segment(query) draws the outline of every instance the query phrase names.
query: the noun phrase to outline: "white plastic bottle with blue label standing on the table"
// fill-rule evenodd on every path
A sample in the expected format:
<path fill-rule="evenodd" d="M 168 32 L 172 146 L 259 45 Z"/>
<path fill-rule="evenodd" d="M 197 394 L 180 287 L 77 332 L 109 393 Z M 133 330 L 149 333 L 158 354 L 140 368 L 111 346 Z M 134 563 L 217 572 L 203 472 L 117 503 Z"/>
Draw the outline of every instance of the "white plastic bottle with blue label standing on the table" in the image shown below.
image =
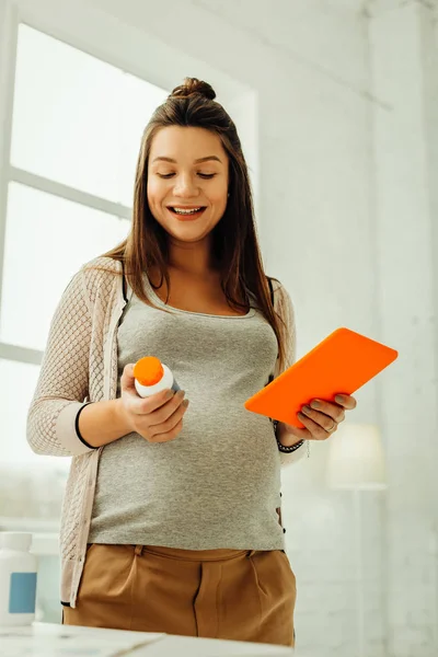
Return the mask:
<path fill-rule="evenodd" d="M 31 533 L 0 532 L 0 627 L 35 620 L 37 558 L 31 545 Z"/>

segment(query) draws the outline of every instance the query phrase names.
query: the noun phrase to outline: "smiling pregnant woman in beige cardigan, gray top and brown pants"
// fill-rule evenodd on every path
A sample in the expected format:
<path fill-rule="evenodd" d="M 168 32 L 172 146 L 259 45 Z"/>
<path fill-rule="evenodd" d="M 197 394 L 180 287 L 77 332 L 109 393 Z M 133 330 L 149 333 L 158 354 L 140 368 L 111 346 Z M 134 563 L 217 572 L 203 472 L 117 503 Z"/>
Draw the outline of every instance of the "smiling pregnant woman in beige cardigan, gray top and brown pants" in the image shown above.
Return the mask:
<path fill-rule="evenodd" d="M 147 355 L 184 390 L 141 399 L 134 364 Z M 186 79 L 146 127 L 128 238 L 62 295 L 28 412 L 34 451 L 72 457 L 66 624 L 293 646 L 280 465 L 356 405 L 315 400 L 301 429 L 247 412 L 293 358 L 235 126 L 209 84 Z"/>

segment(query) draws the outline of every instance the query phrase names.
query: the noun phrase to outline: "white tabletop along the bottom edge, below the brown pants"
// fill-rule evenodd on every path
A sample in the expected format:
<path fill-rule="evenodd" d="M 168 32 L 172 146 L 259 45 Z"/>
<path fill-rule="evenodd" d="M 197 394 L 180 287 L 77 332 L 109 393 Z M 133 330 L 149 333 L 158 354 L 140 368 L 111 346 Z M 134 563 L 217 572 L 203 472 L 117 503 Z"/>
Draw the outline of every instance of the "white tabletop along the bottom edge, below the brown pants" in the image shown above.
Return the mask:
<path fill-rule="evenodd" d="M 1 657 L 286 657 L 292 648 L 266 644 L 34 623 L 0 627 Z"/>

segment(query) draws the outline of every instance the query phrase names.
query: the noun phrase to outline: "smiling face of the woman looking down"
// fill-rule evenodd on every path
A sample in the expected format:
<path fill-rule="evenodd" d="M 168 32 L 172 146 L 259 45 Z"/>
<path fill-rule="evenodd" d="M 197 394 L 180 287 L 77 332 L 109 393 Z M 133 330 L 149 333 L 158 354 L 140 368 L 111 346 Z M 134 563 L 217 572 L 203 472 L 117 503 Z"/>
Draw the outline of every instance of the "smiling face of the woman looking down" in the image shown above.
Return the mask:
<path fill-rule="evenodd" d="M 198 242 L 227 207 L 228 155 L 205 128 L 170 126 L 154 136 L 148 163 L 148 203 L 157 221 L 183 242 Z"/>

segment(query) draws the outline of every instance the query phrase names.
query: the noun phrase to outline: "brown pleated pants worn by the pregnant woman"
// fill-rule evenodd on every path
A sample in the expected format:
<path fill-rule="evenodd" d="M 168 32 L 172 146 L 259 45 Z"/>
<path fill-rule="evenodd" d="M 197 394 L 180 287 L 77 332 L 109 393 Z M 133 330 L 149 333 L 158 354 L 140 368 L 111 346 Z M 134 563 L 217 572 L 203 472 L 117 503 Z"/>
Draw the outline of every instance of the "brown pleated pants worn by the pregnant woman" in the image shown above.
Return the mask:
<path fill-rule="evenodd" d="M 280 550 L 92 544 L 64 623 L 293 646 L 295 601 Z"/>

